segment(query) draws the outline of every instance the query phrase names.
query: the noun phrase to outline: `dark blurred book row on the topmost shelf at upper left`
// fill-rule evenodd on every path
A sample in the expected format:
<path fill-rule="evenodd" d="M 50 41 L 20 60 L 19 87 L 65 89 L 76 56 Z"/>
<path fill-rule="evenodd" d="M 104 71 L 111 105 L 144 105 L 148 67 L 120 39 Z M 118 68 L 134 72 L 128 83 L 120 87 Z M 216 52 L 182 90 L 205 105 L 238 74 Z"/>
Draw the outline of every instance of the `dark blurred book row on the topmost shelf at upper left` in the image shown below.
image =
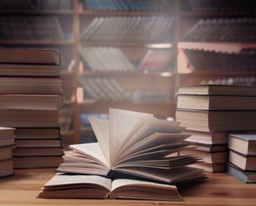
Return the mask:
<path fill-rule="evenodd" d="M 72 0 L 2 0 L 0 10 L 72 10 Z"/>

